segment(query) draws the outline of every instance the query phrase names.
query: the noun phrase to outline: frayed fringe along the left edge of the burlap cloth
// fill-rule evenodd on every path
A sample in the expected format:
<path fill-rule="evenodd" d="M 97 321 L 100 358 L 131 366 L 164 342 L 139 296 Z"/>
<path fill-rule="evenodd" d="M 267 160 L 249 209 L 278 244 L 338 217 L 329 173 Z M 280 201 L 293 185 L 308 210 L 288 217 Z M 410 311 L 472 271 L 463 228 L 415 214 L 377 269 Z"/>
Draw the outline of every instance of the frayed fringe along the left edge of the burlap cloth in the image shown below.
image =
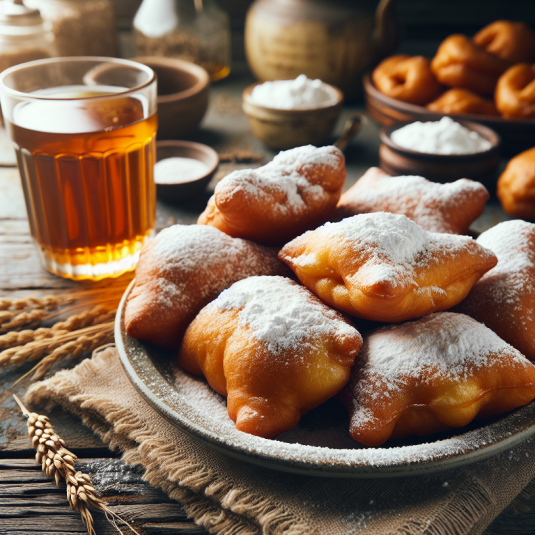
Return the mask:
<path fill-rule="evenodd" d="M 123 451 L 126 464 L 144 466 L 144 480 L 180 502 L 189 518 L 212 534 L 319 535 L 310 525 L 296 523 L 284 507 L 217 481 L 214 474 L 200 465 L 191 465 L 174 447 L 155 441 L 153 430 L 135 412 L 117 410 L 112 401 L 104 399 L 100 400 L 98 411 L 91 408 L 95 396 L 79 394 L 72 374 L 94 374 L 95 359 L 109 359 L 114 352 L 115 348 L 97 350 L 92 359 L 84 360 L 74 369 L 59 371 L 36 383 L 26 392 L 26 401 L 49 407 L 57 404 L 77 415 L 112 451 Z M 102 414 L 107 415 L 106 419 Z"/>

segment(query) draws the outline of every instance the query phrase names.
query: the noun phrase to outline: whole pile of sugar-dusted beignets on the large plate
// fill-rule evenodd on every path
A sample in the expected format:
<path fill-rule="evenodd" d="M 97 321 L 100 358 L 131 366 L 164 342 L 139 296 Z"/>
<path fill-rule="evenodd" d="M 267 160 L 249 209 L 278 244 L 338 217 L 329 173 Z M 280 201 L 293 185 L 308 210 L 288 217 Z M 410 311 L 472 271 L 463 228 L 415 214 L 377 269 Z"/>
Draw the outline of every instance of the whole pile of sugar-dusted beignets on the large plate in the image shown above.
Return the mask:
<path fill-rule="evenodd" d="M 127 333 L 174 350 L 265 438 L 332 396 L 371 447 L 532 401 L 535 224 L 474 240 L 479 183 L 345 180 L 334 146 L 226 176 L 198 224 L 142 249 Z"/>

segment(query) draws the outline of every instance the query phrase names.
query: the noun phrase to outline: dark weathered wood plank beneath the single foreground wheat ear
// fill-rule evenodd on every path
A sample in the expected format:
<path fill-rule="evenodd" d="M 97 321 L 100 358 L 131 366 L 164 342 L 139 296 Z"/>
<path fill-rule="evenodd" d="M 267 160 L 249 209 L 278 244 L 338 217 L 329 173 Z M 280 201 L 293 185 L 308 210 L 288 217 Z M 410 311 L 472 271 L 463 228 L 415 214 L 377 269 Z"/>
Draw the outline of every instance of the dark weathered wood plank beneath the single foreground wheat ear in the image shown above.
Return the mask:
<path fill-rule="evenodd" d="M 77 460 L 77 470 L 91 476 L 93 486 L 114 513 L 121 515 L 142 534 L 198 533 L 202 528 L 187 519 L 183 506 L 162 490 L 143 481 L 141 467 L 127 467 L 118 459 Z M 111 533 L 95 512 L 98 533 Z M 81 520 L 70 510 L 65 485 L 55 485 L 31 459 L 0 460 L 0 532 L 83 532 Z M 24 526 L 24 527 L 22 527 Z"/>

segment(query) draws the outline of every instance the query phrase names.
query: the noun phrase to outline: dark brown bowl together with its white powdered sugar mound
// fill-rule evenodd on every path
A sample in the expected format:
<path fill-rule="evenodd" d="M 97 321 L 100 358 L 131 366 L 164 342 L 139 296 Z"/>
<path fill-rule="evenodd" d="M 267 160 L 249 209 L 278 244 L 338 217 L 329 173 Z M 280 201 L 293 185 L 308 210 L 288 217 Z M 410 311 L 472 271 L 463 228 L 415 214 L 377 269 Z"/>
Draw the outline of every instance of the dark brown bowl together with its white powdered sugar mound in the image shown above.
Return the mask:
<path fill-rule="evenodd" d="M 380 166 L 394 176 L 419 175 L 442 183 L 458 178 L 486 182 L 495 177 L 499 163 L 499 135 L 472 121 L 444 117 L 419 124 L 396 123 L 383 128 L 380 139 Z"/>

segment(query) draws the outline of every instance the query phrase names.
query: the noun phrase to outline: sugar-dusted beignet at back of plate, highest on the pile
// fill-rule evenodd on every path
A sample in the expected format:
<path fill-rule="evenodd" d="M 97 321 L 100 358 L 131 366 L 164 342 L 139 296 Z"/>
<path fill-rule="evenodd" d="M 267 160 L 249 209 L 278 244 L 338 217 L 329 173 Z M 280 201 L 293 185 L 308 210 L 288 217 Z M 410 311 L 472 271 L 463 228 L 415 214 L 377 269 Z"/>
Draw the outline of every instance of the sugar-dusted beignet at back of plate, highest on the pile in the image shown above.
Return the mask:
<path fill-rule="evenodd" d="M 198 224 L 234 238 L 281 245 L 327 221 L 345 181 L 339 148 L 286 150 L 259 169 L 234 171 L 221 180 Z"/>

